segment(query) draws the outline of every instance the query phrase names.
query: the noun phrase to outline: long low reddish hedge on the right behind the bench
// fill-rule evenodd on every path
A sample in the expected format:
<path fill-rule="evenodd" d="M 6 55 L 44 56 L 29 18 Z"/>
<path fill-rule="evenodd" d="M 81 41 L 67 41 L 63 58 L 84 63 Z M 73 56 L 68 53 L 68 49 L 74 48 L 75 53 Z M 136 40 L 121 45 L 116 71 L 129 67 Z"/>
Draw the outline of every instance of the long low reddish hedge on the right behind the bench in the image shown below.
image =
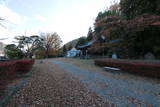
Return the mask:
<path fill-rule="evenodd" d="M 160 78 L 160 63 L 146 63 L 145 61 L 129 61 L 107 58 L 96 59 L 95 65 L 117 67 L 123 71 Z"/>

